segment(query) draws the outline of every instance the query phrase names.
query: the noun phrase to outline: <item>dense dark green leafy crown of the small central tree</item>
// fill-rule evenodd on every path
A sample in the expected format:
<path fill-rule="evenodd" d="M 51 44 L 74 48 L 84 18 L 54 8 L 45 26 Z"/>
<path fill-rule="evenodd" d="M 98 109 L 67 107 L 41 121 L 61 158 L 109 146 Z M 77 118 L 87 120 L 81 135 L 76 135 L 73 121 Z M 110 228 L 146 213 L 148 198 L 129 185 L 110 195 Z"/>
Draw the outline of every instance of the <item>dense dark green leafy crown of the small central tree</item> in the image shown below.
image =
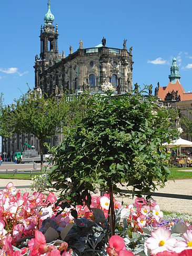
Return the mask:
<path fill-rule="evenodd" d="M 117 193 L 116 184 L 126 182 L 134 187 L 133 194 L 164 185 L 170 172 L 161 144 L 177 136 L 171 118 L 173 112 L 140 93 L 89 96 L 82 123 L 53 152 L 50 181 L 63 191 L 63 206 L 68 200 L 72 205 L 83 204 L 83 200 L 89 205 L 96 184 L 106 191 L 113 185 Z M 67 178 L 72 179 L 70 188 Z"/>

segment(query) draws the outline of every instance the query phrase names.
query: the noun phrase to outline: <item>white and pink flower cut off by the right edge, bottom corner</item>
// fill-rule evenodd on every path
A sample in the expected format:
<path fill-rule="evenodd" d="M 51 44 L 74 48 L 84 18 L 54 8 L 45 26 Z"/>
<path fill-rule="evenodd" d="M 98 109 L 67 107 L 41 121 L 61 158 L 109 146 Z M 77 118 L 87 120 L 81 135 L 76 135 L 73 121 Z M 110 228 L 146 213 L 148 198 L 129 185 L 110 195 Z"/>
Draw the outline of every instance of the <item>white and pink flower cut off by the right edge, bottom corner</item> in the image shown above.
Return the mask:
<path fill-rule="evenodd" d="M 185 241 L 177 241 L 173 251 L 179 253 L 184 250 L 192 249 L 192 230 L 187 230 L 183 234 L 183 237 L 184 237 Z"/>

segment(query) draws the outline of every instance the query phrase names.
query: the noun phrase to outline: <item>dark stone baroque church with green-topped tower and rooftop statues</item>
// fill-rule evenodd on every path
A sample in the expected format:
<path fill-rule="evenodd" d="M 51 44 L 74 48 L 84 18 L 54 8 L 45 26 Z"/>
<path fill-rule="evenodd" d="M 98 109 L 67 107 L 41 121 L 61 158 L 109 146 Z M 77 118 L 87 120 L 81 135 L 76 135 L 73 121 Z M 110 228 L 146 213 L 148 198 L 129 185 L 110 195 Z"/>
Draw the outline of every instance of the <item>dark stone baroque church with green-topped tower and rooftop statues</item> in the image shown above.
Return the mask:
<path fill-rule="evenodd" d="M 53 25 L 49 0 L 47 5 L 39 36 L 41 53 L 35 56 L 35 88 L 47 95 L 60 95 L 66 90 L 78 94 L 84 90 L 98 92 L 108 81 L 118 93 L 132 92 L 132 47 L 127 51 L 127 40 L 122 49 L 107 47 L 104 37 L 102 44 L 91 48 L 83 48 L 80 40 L 77 51 L 69 46 L 68 56 L 64 51 L 59 54 L 58 26 Z"/>

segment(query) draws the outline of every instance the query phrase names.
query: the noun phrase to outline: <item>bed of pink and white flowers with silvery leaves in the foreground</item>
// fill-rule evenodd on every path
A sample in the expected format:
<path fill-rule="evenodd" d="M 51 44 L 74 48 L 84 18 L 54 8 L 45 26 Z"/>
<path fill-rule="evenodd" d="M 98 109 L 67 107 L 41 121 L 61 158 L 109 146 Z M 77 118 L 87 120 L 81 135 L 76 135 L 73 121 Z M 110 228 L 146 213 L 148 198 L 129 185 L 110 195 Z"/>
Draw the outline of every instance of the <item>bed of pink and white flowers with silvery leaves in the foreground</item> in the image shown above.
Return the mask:
<path fill-rule="evenodd" d="M 0 255 L 192 255 L 191 223 L 165 222 L 153 200 L 137 198 L 126 208 L 114 200 L 110 240 L 107 193 L 93 195 L 90 209 L 77 205 L 77 219 L 58 201 L 52 192 L 21 194 L 9 182 L 0 191 Z"/>

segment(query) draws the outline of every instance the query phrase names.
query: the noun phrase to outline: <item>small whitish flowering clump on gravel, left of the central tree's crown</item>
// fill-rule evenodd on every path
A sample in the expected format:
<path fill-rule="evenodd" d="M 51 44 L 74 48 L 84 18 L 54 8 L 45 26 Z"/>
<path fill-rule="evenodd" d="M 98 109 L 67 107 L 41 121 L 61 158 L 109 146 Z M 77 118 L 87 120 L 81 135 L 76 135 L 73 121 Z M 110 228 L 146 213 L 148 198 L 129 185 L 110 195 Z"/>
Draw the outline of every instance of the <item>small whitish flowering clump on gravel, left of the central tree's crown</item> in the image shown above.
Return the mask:
<path fill-rule="evenodd" d="M 48 179 L 48 173 L 35 175 L 34 178 L 32 178 L 30 189 L 37 190 L 37 191 L 44 191 L 47 188 L 47 183 L 46 183 L 47 179 Z"/>

